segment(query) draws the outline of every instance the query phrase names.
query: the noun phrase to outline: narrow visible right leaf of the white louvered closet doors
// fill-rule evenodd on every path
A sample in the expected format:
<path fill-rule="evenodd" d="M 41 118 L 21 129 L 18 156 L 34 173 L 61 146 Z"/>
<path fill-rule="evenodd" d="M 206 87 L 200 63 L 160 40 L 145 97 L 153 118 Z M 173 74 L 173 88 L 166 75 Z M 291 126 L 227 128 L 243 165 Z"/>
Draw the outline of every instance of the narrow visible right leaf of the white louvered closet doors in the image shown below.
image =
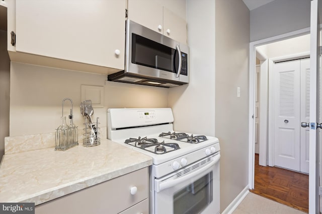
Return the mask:
<path fill-rule="evenodd" d="M 300 60 L 300 122 L 310 120 L 310 59 Z M 309 128 L 300 128 L 300 171 L 309 171 Z"/>

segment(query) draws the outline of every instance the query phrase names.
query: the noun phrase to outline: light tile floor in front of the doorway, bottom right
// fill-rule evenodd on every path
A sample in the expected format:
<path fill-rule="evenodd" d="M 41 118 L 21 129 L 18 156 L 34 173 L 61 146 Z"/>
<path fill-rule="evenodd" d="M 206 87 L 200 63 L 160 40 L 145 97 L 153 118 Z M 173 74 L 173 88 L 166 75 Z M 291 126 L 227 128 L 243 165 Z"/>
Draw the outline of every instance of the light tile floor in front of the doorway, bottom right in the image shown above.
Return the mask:
<path fill-rule="evenodd" d="M 304 214 L 300 210 L 250 192 L 232 214 Z"/>

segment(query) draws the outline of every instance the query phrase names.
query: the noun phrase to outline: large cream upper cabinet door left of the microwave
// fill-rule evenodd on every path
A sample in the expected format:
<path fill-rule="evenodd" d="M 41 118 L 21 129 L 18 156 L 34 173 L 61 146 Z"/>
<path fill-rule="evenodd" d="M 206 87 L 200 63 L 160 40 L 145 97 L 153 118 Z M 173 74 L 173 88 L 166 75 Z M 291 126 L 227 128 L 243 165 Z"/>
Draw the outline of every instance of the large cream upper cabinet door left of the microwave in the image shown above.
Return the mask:
<path fill-rule="evenodd" d="M 17 0 L 16 51 L 124 69 L 125 8 L 125 0 Z"/>

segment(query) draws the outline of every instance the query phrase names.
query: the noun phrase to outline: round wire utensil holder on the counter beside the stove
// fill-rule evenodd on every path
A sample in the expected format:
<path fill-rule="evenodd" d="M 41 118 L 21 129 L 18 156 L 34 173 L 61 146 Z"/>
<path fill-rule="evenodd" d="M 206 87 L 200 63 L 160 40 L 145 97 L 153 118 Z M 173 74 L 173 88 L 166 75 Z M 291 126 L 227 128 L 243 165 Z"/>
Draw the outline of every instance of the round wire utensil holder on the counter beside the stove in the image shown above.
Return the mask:
<path fill-rule="evenodd" d="M 94 125 L 96 126 L 96 134 L 93 132 L 92 128 L 91 128 L 91 123 L 89 122 L 88 118 L 85 118 L 85 128 L 83 129 L 85 131 L 84 135 L 84 139 L 83 139 L 83 146 L 89 147 L 89 146 L 97 146 L 101 144 L 101 140 L 100 140 L 100 127 L 99 127 L 99 122 L 98 122 L 99 118 L 96 118 L 96 123 L 94 123 Z"/>

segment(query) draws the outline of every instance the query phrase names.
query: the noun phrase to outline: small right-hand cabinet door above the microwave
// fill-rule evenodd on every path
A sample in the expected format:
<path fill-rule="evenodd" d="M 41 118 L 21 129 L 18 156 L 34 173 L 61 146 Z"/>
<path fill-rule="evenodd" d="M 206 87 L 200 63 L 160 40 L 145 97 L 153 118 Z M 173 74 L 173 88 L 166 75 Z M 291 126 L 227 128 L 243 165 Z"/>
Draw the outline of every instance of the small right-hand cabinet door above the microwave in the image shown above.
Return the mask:
<path fill-rule="evenodd" d="M 186 21 L 176 14 L 163 8 L 164 35 L 183 44 L 187 43 Z"/>

